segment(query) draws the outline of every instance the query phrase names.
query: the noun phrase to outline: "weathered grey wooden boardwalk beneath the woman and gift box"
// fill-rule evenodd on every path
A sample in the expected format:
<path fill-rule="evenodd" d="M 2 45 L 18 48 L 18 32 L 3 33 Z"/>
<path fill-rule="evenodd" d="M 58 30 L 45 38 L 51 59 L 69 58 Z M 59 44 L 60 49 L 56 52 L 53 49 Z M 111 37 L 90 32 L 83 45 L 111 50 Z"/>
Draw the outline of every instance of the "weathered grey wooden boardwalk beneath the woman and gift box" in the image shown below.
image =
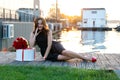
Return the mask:
<path fill-rule="evenodd" d="M 89 55 L 80 54 L 80 55 Z M 39 52 L 36 53 L 34 61 L 16 61 L 15 52 L 0 52 L 0 65 L 31 65 L 31 66 L 66 66 L 74 68 L 85 68 L 85 69 L 106 69 L 106 70 L 120 70 L 120 54 L 102 54 L 93 53 L 92 56 L 97 57 L 97 62 L 85 62 L 78 59 L 71 59 L 69 61 L 51 62 L 51 61 L 40 61 L 41 55 Z"/>

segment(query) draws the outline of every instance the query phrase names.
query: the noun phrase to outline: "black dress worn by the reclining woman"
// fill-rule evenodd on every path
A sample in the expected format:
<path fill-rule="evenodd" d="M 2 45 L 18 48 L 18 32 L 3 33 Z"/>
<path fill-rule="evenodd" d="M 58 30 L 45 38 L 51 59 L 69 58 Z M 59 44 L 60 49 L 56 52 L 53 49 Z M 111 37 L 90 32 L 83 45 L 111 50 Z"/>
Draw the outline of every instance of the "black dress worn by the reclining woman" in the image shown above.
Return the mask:
<path fill-rule="evenodd" d="M 36 37 L 35 43 L 39 46 L 42 56 L 44 56 L 47 49 L 47 41 L 47 34 L 44 32 L 40 32 Z M 65 50 L 65 48 L 59 42 L 52 41 L 52 46 L 46 59 L 57 61 L 58 55 L 61 54 L 63 50 Z"/>

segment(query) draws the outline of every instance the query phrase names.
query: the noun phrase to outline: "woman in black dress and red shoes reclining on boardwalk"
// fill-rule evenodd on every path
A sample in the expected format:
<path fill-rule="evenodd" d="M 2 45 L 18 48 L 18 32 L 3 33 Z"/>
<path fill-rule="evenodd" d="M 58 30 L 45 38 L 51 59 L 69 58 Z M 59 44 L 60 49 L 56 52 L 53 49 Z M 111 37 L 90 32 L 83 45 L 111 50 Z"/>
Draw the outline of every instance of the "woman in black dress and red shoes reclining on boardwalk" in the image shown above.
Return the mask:
<path fill-rule="evenodd" d="M 59 61 L 73 58 L 96 62 L 96 58 L 88 58 L 78 53 L 66 50 L 59 42 L 52 41 L 52 31 L 49 30 L 44 18 L 34 21 L 34 29 L 30 34 L 30 46 L 38 45 L 44 60 Z"/>

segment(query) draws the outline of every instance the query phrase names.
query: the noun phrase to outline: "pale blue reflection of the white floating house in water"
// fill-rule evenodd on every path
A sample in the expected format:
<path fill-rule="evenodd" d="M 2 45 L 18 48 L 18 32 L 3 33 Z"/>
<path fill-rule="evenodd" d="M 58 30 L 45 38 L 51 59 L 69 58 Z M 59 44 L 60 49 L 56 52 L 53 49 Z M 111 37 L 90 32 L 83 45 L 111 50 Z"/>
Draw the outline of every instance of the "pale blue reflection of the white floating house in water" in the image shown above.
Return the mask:
<path fill-rule="evenodd" d="M 105 31 L 81 31 L 81 44 L 94 46 L 92 49 L 105 49 Z"/>

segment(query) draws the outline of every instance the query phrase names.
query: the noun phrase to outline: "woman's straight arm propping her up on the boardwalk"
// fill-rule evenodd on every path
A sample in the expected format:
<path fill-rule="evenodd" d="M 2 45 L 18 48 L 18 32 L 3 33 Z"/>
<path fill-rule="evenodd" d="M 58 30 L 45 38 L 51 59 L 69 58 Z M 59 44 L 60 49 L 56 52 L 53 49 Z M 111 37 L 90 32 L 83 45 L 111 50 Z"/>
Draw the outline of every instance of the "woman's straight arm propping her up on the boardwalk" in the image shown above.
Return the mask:
<path fill-rule="evenodd" d="M 51 45 L 52 45 L 52 31 L 50 30 L 48 32 L 48 46 L 47 46 L 47 49 L 45 51 L 44 59 L 48 56 L 50 49 L 51 49 Z"/>

